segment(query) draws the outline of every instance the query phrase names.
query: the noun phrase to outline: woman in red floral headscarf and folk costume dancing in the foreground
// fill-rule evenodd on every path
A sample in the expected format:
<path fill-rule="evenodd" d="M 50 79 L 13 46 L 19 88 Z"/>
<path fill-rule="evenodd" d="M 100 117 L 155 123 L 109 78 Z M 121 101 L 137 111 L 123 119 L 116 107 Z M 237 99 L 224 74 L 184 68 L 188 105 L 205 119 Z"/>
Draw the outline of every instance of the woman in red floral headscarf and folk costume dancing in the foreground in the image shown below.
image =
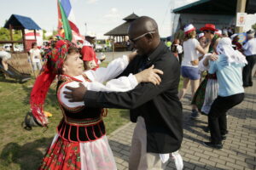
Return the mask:
<path fill-rule="evenodd" d="M 47 61 L 32 88 L 32 114 L 39 123 L 47 125 L 44 100 L 50 84 L 58 76 L 57 100 L 63 118 L 39 169 L 117 169 L 102 122 L 102 116 L 106 114 L 102 109 L 87 108 L 84 102 L 69 102 L 64 98 L 64 88 L 76 88 L 82 83 L 94 91 L 128 91 L 135 88 L 139 82 L 160 83 L 156 72 L 161 71 L 151 67 L 137 75 L 131 74 L 129 77 L 119 77 L 107 82 L 125 70 L 135 53 L 114 59 L 107 68 L 83 72 L 84 65 L 79 58 L 78 49 L 66 40 L 56 42 L 55 48 L 46 56 Z M 151 81 L 148 81 L 149 79 Z M 102 82 L 107 84 L 104 86 Z"/>

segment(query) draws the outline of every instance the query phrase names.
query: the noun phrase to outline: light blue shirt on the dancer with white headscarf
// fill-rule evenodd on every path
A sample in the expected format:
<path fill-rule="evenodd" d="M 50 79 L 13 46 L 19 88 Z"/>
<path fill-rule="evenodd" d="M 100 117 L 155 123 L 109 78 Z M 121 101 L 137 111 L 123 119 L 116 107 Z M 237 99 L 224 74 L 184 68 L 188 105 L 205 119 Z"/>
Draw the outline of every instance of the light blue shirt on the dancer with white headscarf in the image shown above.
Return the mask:
<path fill-rule="evenodd" d="M 241 69 L 244 64 L 227 62 L 225 55 L 218 55 L 216 61 L 210 61 L 209 73 L 216 73 L 218 79 L 218 95 L 226 97 L 244 93 Z"/>

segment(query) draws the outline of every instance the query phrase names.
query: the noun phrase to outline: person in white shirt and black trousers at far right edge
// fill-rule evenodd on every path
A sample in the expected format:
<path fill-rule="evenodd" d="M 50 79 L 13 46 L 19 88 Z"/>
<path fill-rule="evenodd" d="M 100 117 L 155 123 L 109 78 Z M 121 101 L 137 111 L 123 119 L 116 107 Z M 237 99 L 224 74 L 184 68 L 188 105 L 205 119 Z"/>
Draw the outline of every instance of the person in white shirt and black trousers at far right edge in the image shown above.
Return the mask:
<path fill-rule="evenodd" d="M 242 71 L 243 87 L 253 86 L 252 71 L 253 66 L 256 63 L 256 38 L 254 37 L 254 31 L 247 31 L 247 42 L 242 46 L 243 54 L 246 56 L 248 64 Z"/>

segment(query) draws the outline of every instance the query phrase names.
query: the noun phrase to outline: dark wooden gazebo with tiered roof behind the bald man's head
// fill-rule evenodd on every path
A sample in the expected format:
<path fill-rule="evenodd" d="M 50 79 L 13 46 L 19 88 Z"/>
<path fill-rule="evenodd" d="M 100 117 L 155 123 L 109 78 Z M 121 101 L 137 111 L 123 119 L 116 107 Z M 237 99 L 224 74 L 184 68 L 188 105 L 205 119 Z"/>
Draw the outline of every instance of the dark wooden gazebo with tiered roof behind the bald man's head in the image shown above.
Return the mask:
<path fill-rule="evenodd" d="M 109 36 L 110 39 L 113 40 L 113 48 L 114 51 L 125 51 L 126 41 L 125 37 L 128 36 L 128 27 L 130 26 L 131 22 L 133 20 L 136 20 L 138 18 L 137 14 L 130 14 L 129 16 L 125 17 L 123 20 L 125 20 L 124 24 L 121 24 L 120 26 L 117 26 L 113 28 L 113 30 L 108 31 L 104 36 Z"/>

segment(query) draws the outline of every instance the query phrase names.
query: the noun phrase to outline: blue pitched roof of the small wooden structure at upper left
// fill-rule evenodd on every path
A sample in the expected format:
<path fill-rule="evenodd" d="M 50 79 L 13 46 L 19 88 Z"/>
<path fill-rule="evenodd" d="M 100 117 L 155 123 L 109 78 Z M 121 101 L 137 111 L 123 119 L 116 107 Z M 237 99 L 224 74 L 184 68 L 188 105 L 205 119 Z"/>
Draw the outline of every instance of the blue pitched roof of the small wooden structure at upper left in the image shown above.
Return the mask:
<path fill-rule="evenodd" d="M 9 29 L 9 25 L 13 26 L 16 30 L 41 30 L 41 28 L 31 18 L 18 14 L 12 14 L 3 27 Z"/>

